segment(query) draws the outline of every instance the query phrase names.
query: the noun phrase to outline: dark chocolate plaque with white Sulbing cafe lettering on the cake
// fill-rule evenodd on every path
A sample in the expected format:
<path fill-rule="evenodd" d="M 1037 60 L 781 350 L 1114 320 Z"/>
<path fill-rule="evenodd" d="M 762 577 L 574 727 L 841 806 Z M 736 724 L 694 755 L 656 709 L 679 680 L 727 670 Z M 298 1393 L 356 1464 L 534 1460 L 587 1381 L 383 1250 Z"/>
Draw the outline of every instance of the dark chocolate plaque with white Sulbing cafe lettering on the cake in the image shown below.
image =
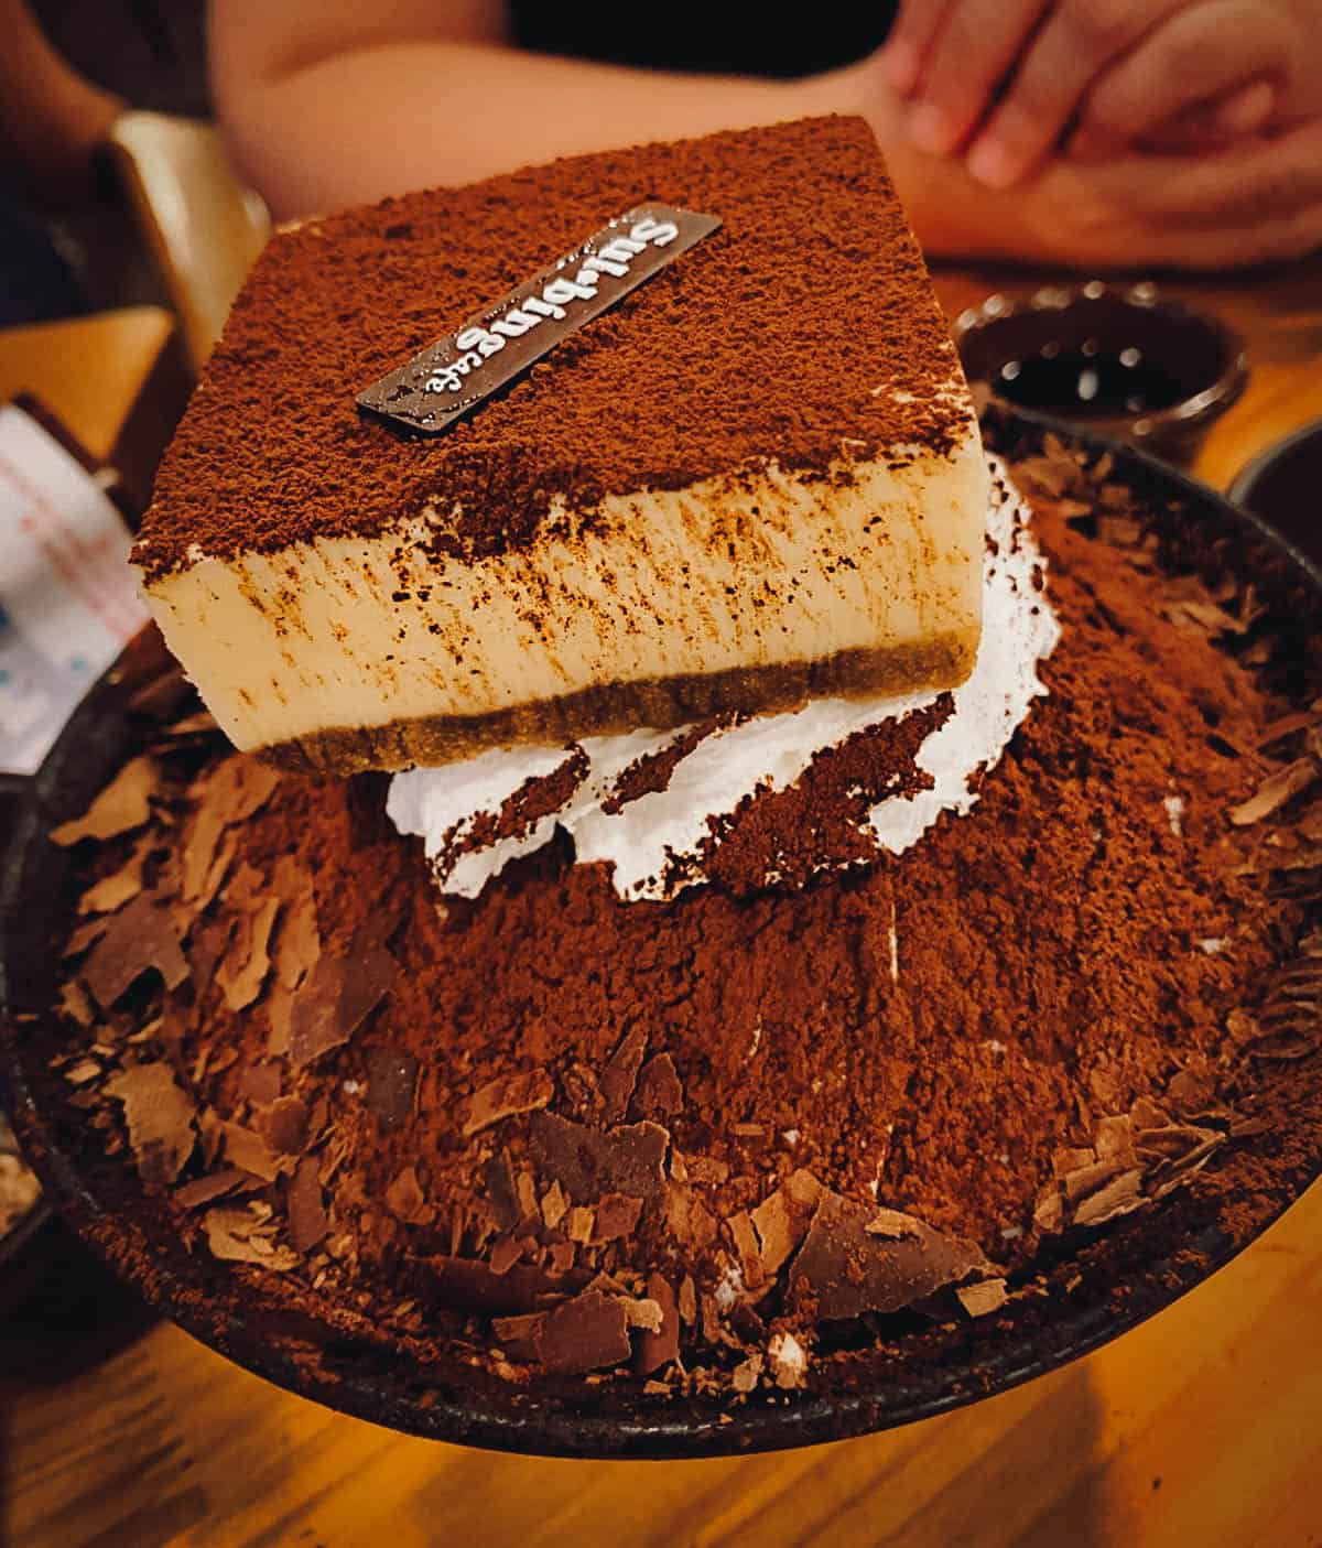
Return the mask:
<path fill-rule="evenodd" d="M 635 204 L 457 331 L 358 395 L 396 427 L 440 435 L 497 389 L 720 226 L 670 204 Z"/>

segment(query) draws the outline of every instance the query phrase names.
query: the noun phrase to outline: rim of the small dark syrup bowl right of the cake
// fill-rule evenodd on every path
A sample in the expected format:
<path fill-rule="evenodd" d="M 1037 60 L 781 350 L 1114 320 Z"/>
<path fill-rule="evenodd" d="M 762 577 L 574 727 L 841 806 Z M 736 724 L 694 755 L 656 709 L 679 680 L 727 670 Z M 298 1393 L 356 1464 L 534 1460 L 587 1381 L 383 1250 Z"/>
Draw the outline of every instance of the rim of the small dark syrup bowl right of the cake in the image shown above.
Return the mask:
<path fill-rule="evenodd" d="M 1111 280 L 1079 280 L 1070 285 L 1040 285 L 1028 296 L 1006 296 L 994 291 L 971 307 L 966 307 L 950 324 L 950 336 L 960 350 L 963 361 L 963 342 L 966 337 L 983 333 L 998 322 L 1025 313 L 1042 314 L 1051 311 L 1067 311 L 1071 307 L 1090 307 L 1102 300 L 1121 302 L 1138 311 L 1163 311 L 1167 316 L 1190 319 L 1209 333 L 1215 334 L 1226 356 L 1226 365 L 1220 376 L 1209 385 L 1181 398 L 1166 409 L 1152 409 L 1144 413 L 1125 415 L 1090 415 L 1087 420 L 1068 420 L 1062 415 L 1048 415 L 1060 424 L 1068 424 L 1084 435 L 1136 435 L 1139 438 L 1159 438 L 1163 432 L 1190 432 L 1207 424 L 1217 415 L 1224 413 L 1234 404 L 1249 379 L 1249 351 L 1243 336 L 1217 313 L 1203 307 L 1194 307 L 1176 296 L 1166 296 L 1152 280 L 1133 280 L 1118 283 Z M 992 398 L 1008 412 L 1036 418 L 1034 410 L 1025 410 L 1022 404 L 997 393 L 995 384 L 988 382 Z"/>

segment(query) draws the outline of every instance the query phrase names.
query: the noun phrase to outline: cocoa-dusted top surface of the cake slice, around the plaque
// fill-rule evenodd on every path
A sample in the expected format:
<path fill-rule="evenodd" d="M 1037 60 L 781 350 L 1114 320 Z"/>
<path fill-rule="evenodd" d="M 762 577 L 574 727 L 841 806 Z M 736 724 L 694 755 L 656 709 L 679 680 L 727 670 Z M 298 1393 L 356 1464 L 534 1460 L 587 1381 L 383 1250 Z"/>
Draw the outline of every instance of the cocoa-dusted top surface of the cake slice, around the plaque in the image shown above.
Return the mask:
<path fill-rule="evenodd" d="M 444 435 L 359 418 L 361 389 L 649 198 L 721 229 Z M 522 548 L 556 495 L 590 509 L 768 461 L 822 472 L 842 437 L 859 458 L 944 452 L 968 430 L 952 384 L 958 359 L 862 119 L 576 156 L 276 232 L 161 464 L 135 560 L 159 574 L 194 545 L 272 553 L 457 505 L 440 546 Z"/>

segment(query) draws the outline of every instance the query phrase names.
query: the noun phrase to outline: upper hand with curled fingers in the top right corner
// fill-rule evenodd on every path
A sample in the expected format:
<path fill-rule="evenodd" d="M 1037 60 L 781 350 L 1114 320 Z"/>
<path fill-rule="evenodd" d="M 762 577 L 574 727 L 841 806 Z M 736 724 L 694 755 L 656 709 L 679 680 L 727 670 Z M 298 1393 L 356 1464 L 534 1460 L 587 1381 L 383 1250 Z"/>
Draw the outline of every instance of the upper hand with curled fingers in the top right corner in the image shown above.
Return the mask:
<path fill-rule="evenodd" d="M 902 0 L 881 68 L 918 149 L 991 187 L 1322 115 L 1322 0 Z"/>

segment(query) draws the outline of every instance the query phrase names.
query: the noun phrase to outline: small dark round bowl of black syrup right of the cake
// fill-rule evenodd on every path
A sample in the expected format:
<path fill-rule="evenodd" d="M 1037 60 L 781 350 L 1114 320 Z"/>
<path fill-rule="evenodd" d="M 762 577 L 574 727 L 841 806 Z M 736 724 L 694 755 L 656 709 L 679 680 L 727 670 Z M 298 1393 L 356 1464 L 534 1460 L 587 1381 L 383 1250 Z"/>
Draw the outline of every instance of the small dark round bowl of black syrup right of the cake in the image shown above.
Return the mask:
<path fill-rule="evenodd" d="M 1217 317 L 1149 283 L 1088 280 L 1012 300 L 989 296 L 955 319 L 971 382 L 1028 415 L 1068 420 L 1175 463 L 1240 396 L 1248 356 Z"/>

